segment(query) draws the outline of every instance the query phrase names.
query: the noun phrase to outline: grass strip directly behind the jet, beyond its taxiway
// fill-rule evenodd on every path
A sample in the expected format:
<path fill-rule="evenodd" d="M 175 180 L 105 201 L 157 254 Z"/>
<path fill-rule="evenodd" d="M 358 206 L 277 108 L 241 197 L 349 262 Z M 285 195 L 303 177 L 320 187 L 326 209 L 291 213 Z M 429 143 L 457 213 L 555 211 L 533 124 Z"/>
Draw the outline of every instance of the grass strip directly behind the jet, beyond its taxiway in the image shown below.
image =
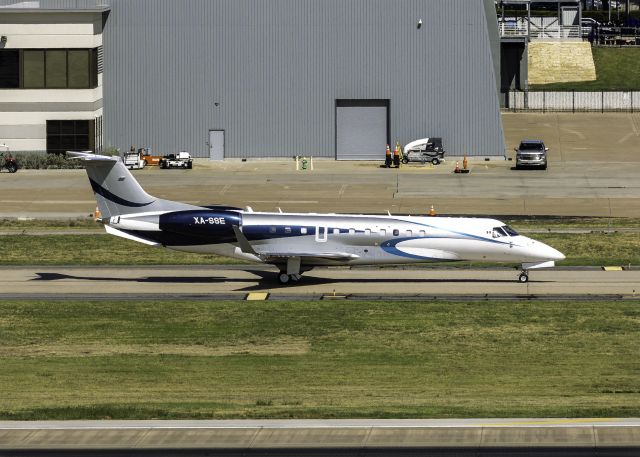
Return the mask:
<path fill-rule="evenodd" d="M 541 233 L 563 252 L 559 265 L 640 265 L 640 233 Z M 158 249 L 106 235 L 0 236 L 0 265 L 213 265 L 238 260 Z M 465 263 L 464 265 L 468 265 Z"/>

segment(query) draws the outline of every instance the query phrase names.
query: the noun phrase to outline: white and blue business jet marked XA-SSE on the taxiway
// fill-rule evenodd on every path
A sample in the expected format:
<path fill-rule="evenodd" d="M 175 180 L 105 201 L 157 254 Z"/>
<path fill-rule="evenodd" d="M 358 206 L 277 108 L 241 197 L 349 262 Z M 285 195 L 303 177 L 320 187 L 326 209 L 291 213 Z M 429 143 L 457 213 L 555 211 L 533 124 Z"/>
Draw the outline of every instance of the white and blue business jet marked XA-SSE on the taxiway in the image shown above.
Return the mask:
<path fill-rule="evenodd" d="M 263 213 L 194 206 L 152 197 L 120 158 L 84 152 L 89 182 L 108 233 L 151 246 L 268 263 L 282 284 L 319 265 L 455 260 L 554 266 L 564 255 L 495 219 Z"/>

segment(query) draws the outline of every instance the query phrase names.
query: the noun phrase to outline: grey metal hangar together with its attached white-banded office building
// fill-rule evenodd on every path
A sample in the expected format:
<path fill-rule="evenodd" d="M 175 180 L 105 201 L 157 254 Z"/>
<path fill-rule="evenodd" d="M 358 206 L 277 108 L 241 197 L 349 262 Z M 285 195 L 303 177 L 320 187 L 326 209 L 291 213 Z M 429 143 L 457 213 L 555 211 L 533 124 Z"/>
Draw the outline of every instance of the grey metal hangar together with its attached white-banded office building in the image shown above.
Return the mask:
<path fill-rule="evenodd" d="M 12 150 L 357 160 L 437 136 L 450 155 L 505 155 L 492 0 L 0 5 Z"/>

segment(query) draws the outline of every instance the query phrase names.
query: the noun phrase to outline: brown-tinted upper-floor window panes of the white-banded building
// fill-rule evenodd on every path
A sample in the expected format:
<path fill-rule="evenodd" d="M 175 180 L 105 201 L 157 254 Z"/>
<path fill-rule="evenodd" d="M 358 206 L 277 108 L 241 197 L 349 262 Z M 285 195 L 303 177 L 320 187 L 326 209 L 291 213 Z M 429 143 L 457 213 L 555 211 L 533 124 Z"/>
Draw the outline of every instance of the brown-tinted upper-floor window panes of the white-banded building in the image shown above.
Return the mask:
<path fill-rule="evenodd" d="M 24 89 L 89 89 L 98 87 L 95 49 L 22 50 Z"/>

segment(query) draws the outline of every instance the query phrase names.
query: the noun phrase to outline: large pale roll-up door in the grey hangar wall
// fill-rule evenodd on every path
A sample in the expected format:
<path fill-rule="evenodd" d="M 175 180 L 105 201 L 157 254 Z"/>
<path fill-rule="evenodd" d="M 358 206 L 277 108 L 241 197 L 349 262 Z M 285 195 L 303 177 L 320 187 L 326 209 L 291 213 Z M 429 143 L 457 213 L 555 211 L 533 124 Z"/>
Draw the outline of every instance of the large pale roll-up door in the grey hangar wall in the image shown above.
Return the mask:
<path fill-rule="evenodd" d="M 336 100 L 336 159 L 384 160 L 389 100 Z"/>

